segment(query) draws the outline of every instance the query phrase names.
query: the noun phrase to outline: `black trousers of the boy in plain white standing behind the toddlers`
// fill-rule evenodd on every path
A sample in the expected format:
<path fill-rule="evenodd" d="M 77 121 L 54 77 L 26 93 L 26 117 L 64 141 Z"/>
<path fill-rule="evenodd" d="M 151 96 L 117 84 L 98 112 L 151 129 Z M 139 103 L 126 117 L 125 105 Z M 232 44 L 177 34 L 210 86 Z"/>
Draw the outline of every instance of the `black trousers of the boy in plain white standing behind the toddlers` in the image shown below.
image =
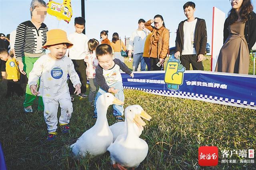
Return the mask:
<path fill-rule="evenodd" d="M 86 92 L 86 84 L 87 84 L 86 63 L 84 62 L 84 60 L 72 60 L 72 62 L 74 63 L 75 70 L 80 78 L 81 83 L 82 83 L 81 93 L 85 93 Z M 68 87 L 69 87 L 70 94 L 74 94 L 75 88 L 74 88 L 71 80 L 68 81 Z"/>

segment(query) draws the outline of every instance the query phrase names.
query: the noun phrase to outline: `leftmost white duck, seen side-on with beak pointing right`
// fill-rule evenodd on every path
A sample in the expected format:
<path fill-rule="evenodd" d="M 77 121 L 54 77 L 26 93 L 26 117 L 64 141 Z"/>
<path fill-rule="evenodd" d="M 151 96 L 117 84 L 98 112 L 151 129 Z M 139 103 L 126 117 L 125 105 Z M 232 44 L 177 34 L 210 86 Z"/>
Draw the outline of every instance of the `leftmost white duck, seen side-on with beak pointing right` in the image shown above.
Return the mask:
<path fill-rule="evenodd" d="M 112 104 L 124 104 L 111 93 L 102 94 L 96 101 L 97 120 L 94 126 L 88 129 L 78 138 L 70 148 L 76 156 L 86 156 L 87 153 L 93 156 L 104 154 L 113 141 L 113 135 L 108 127 L 107 110 Z"/>

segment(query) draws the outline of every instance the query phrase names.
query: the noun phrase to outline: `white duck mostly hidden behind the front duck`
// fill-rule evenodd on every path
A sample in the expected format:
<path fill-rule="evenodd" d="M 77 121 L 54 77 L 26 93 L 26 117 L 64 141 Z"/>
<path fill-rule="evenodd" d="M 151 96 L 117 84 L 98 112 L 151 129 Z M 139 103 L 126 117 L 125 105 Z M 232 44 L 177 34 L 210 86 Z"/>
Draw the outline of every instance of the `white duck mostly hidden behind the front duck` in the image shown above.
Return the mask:
<path fill-rule="evenodd" d="M 145 112 L 144 109 L 140 105 L 132 105 L 132 106 L 136 107 L 136 109 L 137 109 L 137 112 L 135 114 L 140 114 L 142 112 Z M 149 119 L 151 119 L 151 117 Z M 138 137 L 140 137 L 143 129 L 140 129 L 136 125 L 136 123 L 133 123 L 133 125 L 134 125 L 135 133 L 137 134 Z M 127 132 L 126 123 L 123 121 L 117 122 L 114 125 L 111 125 L 109 128 L 113 134 L 113 141 L 115 141 L 119 135 L 126 134 L 126 132 Z"/>

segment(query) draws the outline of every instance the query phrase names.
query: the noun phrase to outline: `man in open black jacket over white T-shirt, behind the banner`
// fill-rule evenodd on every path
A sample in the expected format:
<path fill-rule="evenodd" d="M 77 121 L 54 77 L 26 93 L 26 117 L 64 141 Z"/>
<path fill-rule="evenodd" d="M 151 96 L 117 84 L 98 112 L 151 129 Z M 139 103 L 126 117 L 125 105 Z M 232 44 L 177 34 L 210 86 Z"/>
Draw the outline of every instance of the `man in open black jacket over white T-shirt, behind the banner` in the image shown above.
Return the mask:
<path fill-rule="evenodd" d="M 203 19 L 195 18 L 196 10 L 194 2 L 184 4 L 184 14 L 187 20 L 181 21 L 176 35 L 176 53 L 174 57 L 180 57 L 181 64 L 190 70 L 190 63 L 193 70 L 204 70 L 202 60 L 207 42 L 206 23 Z"/>

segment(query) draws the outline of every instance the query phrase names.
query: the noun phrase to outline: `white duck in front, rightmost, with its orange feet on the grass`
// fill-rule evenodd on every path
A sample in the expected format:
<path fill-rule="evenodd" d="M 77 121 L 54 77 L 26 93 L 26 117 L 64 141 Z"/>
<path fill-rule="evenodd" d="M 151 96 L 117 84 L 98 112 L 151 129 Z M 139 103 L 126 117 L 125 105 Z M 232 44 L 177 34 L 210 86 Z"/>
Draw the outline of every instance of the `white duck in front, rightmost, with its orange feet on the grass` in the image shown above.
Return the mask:
<path fill-rule="evenodd" d="M 114 143 L 108 147 L 110 158 L 114 168 L 126 170 L 124 167 L 137 168 L 147 154 L 148 144 L 140 139 L 134 130 L 133 123 L 143 130 L 146 123 L 141 117 L 150 120 L 150 115 L 145 112 L 136 114 L 138 111 L 136 106 L 128 106 L 124 111 L 127 133 L 119 135 Z"/>

